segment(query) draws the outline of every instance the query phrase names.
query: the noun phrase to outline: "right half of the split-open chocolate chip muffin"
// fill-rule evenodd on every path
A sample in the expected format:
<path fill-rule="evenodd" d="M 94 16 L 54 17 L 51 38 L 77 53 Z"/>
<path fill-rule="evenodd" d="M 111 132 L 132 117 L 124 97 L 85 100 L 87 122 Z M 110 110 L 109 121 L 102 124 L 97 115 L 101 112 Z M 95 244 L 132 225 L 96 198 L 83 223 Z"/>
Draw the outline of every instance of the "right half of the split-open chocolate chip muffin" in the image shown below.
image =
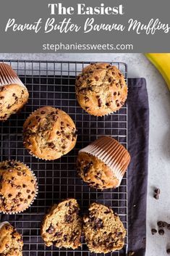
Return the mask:
<path fill-rule="evenodd" d="M 109 207 L 93 203 L 83 220 L 85 241 L 90 252 L 108 253 L 124 247 L 126 231 L 119 216 Z"/>

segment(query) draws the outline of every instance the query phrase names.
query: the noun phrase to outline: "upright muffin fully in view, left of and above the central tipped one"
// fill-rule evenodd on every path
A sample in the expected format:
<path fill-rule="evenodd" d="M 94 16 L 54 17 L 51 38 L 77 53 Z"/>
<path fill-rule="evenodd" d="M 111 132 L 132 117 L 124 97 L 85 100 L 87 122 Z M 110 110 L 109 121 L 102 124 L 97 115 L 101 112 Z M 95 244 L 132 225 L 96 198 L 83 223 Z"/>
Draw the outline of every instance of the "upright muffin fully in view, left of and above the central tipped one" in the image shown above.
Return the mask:
<path fill-rule="evenodd" d="M 24 146 L 30 154 L 55 160 L 72 150 L 77 131 L 72 118 L 54 107 L 41 107 L 24 123 Z"/>

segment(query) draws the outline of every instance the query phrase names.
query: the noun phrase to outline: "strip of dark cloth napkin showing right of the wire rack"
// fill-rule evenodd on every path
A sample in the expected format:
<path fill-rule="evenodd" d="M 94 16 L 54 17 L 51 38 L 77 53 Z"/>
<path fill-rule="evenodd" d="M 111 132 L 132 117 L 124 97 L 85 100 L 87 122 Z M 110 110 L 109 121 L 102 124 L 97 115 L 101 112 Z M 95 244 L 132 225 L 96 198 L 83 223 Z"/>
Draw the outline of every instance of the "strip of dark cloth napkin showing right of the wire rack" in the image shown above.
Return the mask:
<path fill-rule="evenodd" d="M 148 181 L 149 105 L 145 78 L 128 80 L 128 169 L 129 255 L 145 255 L 146 198 Z"/>

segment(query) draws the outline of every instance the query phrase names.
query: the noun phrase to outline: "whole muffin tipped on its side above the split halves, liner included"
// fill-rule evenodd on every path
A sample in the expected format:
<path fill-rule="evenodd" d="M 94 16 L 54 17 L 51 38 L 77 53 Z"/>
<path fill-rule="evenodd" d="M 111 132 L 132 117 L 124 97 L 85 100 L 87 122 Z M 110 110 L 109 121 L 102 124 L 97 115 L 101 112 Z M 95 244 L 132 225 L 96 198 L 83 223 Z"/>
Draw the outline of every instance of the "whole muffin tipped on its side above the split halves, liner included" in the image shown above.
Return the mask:
<path fill-rule="evenodd" d="M 116 139 L 101 136 L 81 149 L 77 157 L 77 172 L 83 181 L 97 189 L 120 185 L 129 165 L 130 155 Z"/>

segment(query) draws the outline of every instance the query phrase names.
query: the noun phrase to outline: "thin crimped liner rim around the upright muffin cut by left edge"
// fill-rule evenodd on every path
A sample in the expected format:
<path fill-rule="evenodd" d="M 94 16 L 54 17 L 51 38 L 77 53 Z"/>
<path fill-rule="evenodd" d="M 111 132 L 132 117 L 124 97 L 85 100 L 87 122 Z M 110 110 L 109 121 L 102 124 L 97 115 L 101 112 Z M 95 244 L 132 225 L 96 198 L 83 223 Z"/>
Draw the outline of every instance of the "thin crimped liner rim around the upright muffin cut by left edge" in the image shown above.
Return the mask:
<path fill-rule="evenodd" d="M 24 162 L 21 162 L 21 161 L 19 161 L 19 160 L 18 160 L 18 161 L 17 161 L 17 160 L 6 160 L 6 161 L 2 161 L 2 162 L 9 162 L 9 161 L 11 161 L 11 162 L 20 162 L 20 163 L 22 163 L 23 165 L 25 165 Z M 33 197 L 32 201 L 30 202 L 30 205 L 27 205 L 27 207 L 26 207 L 24 210 L 22 210 L 22 211 L 18 211 L 18 212 L 5 212 L 5 211 L 0 211 L 0 213 L 7 214 L 7 215 L 17 214 L 17 213 L 20 213 L 20 212 L 25 212 L 25 210 L 27 210 L 31 205 L 33 205 L 33 202 L 35 201 L 35 199 L 36 199 L 36 197 L 37 197 L 37 195 L 38 195 L 38 182 L 37 182 L 37 177 L 35 176 L 35 173 L 33 173 L 33 170 L 31 170 L 28 165 L 25 165 L 25 166 L 28 168 L 28 170 L 30 170 L 30 173 L 32 173 L 32 175 L 33 175 L 33 177 L 34 177 L 34 179 L 35 179 L 35 185 L 36 185 L 36 187 L 35 187 L 35 196 Z M 2 198 L 3 198 L 3 197 L 2 197 Z"/>

